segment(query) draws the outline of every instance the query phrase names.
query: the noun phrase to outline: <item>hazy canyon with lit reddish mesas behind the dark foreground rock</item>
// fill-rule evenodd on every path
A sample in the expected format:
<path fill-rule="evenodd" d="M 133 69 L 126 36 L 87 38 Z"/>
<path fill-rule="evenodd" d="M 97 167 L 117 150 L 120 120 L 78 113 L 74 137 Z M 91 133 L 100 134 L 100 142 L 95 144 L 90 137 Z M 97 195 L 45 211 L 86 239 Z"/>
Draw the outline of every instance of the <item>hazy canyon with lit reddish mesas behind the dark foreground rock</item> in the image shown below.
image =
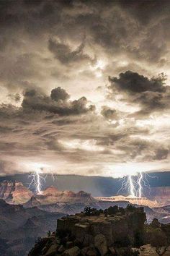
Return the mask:
<path fill-rule="evenodd" d="M 156 192 L 166 199 L 169 189 L 157 189 Z M 58 218 L 81 213 L 86 207 L 104 210 L 115 205 L 126 208 L 131 203 L 138 208 L 143 206 L 148 223 L 153 218 L 158 218 L 161 223 L 169 223 L 169 205 L 161 206 L 154 197 L 156 194 L 151 196 L 140 200 L 121 195 L 92 197 L 88 192 L 60 191 L 53 186 L 35 195 L 21 182 L 1 182 L 0 249 L 3 251 L 3 244 L 6 244 L 3 256 L 26 256 L 35 239 L 45 236 L 48 230 L 55 231 Z"/>

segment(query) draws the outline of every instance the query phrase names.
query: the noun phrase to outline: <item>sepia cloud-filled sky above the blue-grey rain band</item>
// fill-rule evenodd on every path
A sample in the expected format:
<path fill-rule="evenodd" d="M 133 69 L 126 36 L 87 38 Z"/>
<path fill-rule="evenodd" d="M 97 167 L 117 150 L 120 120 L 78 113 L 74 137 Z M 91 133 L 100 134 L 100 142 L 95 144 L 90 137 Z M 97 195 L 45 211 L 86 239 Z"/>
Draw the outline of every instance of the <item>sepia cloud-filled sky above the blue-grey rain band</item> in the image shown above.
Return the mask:
<path fill-rule="evenodd" d="M 0 1 L 0 172 L 169 171 L 170 1 Z"/>

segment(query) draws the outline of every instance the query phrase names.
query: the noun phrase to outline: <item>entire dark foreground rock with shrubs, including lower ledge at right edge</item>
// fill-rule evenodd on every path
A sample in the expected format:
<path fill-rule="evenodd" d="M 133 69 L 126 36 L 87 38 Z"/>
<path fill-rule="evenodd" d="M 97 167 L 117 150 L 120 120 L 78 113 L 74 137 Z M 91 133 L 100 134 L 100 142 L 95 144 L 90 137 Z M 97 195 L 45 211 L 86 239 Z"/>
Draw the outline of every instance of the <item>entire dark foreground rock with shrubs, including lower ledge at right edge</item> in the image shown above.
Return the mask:
<path fill-rule="evenodd" d="M 35 244 L 29 256 L 170 256 L 169 245 L 170 223 L 156 218 L 146 223 L 143 208 L 87 207 L 58 219 L 57 231 Z"/>

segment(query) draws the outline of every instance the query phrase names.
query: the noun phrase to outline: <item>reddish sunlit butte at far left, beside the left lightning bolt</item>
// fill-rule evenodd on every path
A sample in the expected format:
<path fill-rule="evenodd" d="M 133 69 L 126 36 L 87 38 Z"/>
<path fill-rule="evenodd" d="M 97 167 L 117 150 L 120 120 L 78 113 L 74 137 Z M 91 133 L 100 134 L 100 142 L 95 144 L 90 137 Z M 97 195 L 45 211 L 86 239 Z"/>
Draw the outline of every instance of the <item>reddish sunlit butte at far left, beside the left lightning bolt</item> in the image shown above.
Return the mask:
<path fill-rule="evenodd" d="M 10 204 L 23 204 L 32 197 L 33 193 L 22 182 L 4 181 L 0 183 L 0 198 Z"/>

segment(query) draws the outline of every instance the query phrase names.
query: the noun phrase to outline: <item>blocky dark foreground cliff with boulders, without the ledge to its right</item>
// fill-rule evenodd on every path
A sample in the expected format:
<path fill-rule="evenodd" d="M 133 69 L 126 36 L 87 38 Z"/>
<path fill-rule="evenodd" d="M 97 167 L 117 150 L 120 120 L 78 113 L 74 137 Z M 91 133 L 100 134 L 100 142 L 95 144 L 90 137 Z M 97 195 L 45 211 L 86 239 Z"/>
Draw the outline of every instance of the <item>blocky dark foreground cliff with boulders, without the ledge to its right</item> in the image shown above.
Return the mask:
<path fill-rule="evenodd" d="M 143 208 L 88 211 L 58 219 L 57 232 L 35 244 L 29 256 L 138 255 L 132 247 L 143 244 Z"/>

